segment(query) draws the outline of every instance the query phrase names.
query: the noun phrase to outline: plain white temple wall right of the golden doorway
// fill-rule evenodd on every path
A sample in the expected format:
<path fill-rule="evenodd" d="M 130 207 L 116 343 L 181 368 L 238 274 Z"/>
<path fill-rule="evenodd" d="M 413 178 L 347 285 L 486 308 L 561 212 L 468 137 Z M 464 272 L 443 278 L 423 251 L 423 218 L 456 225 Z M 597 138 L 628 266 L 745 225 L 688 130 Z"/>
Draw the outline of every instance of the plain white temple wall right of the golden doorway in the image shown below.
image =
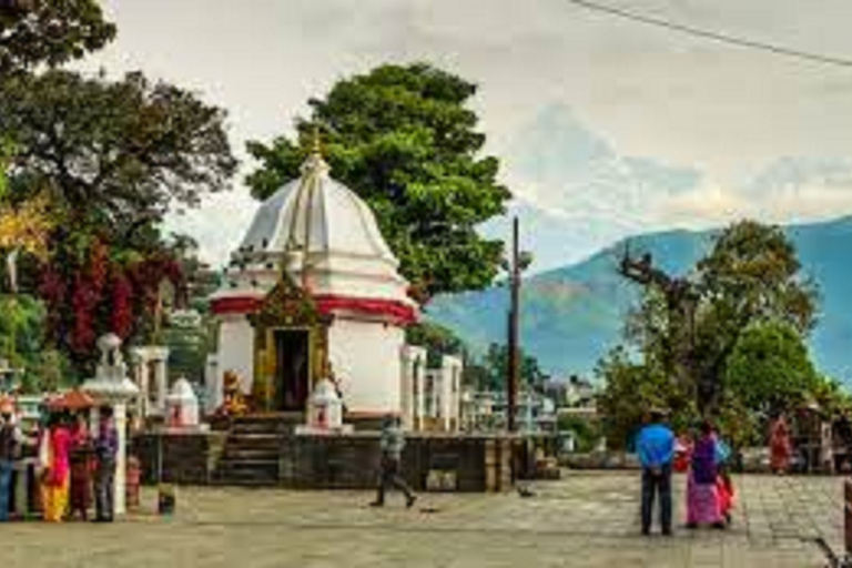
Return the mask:
<path fill-rule="evenodd" d="M 402 410 L 400 349 L 405 332 L 379 322 L 338 317 L 328 329 L 329 361 L 349 413 Z"/>

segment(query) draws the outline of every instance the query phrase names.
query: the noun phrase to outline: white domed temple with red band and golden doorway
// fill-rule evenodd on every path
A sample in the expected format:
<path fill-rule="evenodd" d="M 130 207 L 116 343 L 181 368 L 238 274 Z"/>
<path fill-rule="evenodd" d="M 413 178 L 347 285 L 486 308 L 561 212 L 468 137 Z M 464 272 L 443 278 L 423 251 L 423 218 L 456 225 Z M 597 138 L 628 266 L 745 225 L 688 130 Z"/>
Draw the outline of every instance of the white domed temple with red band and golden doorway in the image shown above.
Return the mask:
<path fill-rule="evenodd" d="M 418 310 L 397 266 L 371 209 L 329 176 L 315 148 L 302 176 L 261 205 L 211 297 L 220 328 L 207 410 L 222 403 L 227 372 L 246 394 L 265 389 L 270 412 L 307 412 L 314 385 L 331 378 L 347 416 L 390 413 L 417 427 L 425 356 L 405 345 Z M 448 357 L 444 367 L 457 374 L 460 363 Z M 447 429 L 457 381 L 443 383 Z"/>

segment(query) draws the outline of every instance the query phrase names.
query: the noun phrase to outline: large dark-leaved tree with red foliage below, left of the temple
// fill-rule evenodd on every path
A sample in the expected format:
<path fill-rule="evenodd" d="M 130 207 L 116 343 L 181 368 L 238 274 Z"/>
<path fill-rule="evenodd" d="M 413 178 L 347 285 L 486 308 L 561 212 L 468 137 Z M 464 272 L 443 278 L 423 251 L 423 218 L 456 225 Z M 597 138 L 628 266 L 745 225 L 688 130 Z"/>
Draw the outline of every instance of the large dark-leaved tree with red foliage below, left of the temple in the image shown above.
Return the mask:
<path fill-rule="evenodd" d="M 49 305 L 52 344 L 90 372 L 94 339 L 151 335 L 179 252 L 159 224 L 166 211 L 227 187 L 236 162 L 224 112 L 141 73 L 120 81 L 68 71 L 0 84 L 0 135 L 16 143 L 13 203 L 47 195 L 45 263 L 21 280 Z"/>

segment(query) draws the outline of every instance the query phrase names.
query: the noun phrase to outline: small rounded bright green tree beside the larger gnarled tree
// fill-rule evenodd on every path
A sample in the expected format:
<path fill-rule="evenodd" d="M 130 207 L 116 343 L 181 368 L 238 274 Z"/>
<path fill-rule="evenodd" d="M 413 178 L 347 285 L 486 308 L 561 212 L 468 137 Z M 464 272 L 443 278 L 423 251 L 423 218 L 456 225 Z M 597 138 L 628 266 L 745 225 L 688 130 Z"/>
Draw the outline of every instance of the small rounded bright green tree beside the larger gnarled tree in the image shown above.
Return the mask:
<path fill-rule="evenodd" d="M 783 323 L 742 332 L 728 359 L 724 384 L 747 408 L 788 410 L 815 394 L 821 379 L 799 333 Z"/>

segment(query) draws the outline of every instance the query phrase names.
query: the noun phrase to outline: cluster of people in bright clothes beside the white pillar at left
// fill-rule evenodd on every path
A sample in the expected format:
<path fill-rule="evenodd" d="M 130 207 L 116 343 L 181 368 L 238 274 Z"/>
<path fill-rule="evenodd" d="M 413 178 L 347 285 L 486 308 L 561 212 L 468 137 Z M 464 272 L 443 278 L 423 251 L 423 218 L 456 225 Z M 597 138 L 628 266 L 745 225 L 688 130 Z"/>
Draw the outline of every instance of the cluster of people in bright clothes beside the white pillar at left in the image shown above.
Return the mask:
<path fill-rule="evenodd" d="M 0 407 L 0 521 L 26 504 L 14 503 L 14 476 L 26 468 L 14 467 L 27 449 L 34 450 L 34 507 L 49 523 L 60 523 L 79 515 L 89 519 L 92 500 L 95 521 L 113 520 L 113 478 L 118 453 L 118 433 L 112 409 L 100 409 L 98 432 L 89 432 L 84 414 L 49 412 L 34 435 L 26 435 L 10 403 Z M 94 494 L 94 499 L 92 495 Z"/>

